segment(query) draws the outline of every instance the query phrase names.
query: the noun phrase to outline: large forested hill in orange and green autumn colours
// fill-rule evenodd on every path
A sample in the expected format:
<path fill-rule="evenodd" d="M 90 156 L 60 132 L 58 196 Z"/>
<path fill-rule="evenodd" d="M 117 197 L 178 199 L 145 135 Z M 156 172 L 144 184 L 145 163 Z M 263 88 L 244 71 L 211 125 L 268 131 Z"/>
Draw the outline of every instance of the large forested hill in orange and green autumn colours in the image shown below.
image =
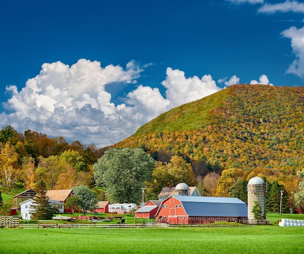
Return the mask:
<path fill-rule="evenodd" d="M 264 175 L 304 167 L 304 87 L 234 85 L 174 108 L 117 147 L 145 147 Z"/>

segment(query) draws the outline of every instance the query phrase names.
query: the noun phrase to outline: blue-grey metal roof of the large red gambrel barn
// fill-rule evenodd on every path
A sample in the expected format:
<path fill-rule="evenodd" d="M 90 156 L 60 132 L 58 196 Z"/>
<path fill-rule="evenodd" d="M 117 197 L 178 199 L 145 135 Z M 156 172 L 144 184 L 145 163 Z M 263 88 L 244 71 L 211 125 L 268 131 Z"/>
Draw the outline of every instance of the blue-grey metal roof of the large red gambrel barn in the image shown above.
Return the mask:
<path fill-rule="evenodd" d="M 180 200 L 188 216 L 247 217 L 246 203 L 238 198 L 173 196 Z"/>

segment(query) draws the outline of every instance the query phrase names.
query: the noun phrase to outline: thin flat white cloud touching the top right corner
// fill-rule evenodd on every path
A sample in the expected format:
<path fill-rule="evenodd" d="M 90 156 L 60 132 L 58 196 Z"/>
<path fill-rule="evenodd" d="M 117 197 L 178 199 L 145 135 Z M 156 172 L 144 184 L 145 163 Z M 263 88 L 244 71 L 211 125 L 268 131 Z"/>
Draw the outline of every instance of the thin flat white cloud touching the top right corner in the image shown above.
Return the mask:
<path fill-rule="evenodd" d="M 294 13 L 304 13 L 304 3 L 298 1 L 289 1 L 280 3 L 265 3 L 258 9 L 258 13 L 269 13 L 273 14 L 276 12 L 294 12 Z"/>

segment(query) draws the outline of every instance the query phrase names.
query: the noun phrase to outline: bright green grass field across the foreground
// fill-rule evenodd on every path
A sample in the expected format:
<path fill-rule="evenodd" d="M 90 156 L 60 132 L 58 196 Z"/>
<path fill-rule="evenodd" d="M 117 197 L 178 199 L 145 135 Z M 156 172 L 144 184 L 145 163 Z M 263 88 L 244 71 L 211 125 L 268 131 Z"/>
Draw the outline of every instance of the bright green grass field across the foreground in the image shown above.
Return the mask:
<path fill-rule="evenodd" d="M 0 229 L 0 253 L 304 253 L 304 227 Z"/>

